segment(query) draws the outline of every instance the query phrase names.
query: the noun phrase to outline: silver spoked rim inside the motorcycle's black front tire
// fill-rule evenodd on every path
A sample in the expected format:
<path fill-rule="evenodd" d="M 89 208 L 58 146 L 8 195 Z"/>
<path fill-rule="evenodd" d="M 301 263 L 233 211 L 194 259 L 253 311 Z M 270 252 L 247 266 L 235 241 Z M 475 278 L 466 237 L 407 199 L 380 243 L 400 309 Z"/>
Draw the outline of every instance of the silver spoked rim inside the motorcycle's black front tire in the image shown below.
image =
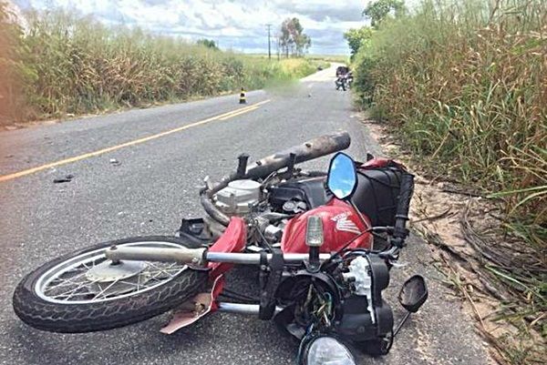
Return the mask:
<path fill-rule="evenodd" d="M 180 244 L 162 241 L 129 242 L 117 246 L 183 247 Z M 36 280 L 36 295 L 51 303 L 104 302 L 127 298 L 157 288 L 187 269 L 186 265 L 172 262 L 130 261 L 125 271 L 108 271 L 109 276 L 98 275 L 98 269 L 109 265 L 104 255 L 106 249 L 98 248 L 82 253 L 48 269 Z M 123 264 L 122 261 L 121 265 Z"/>

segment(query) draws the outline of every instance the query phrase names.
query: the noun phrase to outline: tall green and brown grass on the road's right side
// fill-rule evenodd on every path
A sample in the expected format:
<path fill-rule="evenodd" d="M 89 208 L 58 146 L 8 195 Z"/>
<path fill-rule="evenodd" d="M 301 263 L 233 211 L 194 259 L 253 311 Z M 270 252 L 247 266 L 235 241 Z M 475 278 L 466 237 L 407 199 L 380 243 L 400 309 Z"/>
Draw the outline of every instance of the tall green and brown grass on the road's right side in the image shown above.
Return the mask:
<path fill-rule="evenodd" d="M 394 126 L 432 172 L 502 199 L 507 233 L 527 243 L 515 249 L 529 261 L 495 275 L 543 336 L 546 25 L 542 0 L 425 1 L 411 11 L 392 6 L 352 47 L 358 105 Z"/>

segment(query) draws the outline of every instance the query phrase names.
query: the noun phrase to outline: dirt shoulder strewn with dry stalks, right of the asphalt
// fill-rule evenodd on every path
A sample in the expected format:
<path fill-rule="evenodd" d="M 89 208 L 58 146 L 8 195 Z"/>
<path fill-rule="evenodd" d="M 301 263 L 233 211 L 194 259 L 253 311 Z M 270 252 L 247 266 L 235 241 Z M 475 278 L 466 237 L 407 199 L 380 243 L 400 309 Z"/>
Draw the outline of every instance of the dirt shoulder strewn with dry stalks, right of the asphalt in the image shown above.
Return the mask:
<path fill-rule="evenodd" d="M 384 153 L 403 161 L 416 175 L 411 228 L 428 242 L 441 283 L 475 320 L 492 358 L 501 364 L 547 363 L 545 333 L 538 330 L 545 332 L 547 313 L 529 308 L 520 284 L 511 283 L 506 274 L 541 260 L 534 260 L 519 238 L 503 232 L 497 202 L 435 176 L 431 167 L 420 166 L 402 150 L 385 124 L 365 115 L 361 120 Z"/>

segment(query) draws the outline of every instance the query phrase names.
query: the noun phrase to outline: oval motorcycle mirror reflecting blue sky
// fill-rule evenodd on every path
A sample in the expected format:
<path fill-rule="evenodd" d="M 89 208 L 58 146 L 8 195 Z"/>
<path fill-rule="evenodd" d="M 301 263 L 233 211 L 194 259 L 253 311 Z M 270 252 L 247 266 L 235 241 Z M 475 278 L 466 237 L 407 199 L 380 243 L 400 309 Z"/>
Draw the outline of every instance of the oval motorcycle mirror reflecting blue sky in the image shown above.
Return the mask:
<path fill-rule="evenodd" d="M 345 199 L 352 195 L 357 184 L 356 164 L 344 153 L 337 153 L 328 168 L 326 186 L 336 198 Z"/>

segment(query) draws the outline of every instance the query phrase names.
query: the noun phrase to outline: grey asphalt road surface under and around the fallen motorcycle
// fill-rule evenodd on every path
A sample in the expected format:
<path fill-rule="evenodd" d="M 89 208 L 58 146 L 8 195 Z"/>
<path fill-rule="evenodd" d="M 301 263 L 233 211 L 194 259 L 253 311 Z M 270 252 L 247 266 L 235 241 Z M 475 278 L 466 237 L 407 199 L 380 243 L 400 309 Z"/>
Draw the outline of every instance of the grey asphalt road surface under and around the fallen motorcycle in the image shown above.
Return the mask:
<path fill-rule="evenodd" d="M 365 157 L 367 150 L 381 153 L 352 116 L 349 93 L 335 91 L 333 75 L 329 69 L 287 90 L 250 92 L 249 106 L 265 102 L 232 117 L 216 117 L 241 107 L 237 96 L 222 96 L 1 132 L 0 363 L 293 363 L 297 343 L 259 319 L 215 313 L 166 336 L 158 331 L 166 320 L 160 316 L 119 330 L 60 335 L 33 330 L 16 319 L 11 296 L 27 271 L 75 248 L 113 238 L 172 234 L 182 217 L 201 215 L 197 190 L 202 178 L 232 171 L 242 152 L 260 158 L 346 129 L 354 157 Z M 88 155 L 94 151 L 99 152 Z M 77 158 L 67 160 L 71 157 Z M 121 165 L 110 164 L 110 158 Z M 310 165 L 326 169 L 327 161 Z M 29 171 L 33 167 L 38 168 Z M 53 183 L 67 174 L 74 175 L 71 182 Z M 428 278 L 429 300 L 387 357 L 359 356 L 360 363 L 488 363 L 469 316 L 435 279 L 427 245 L 415 237 L 408 243 L 401 259 L 408 266 L 393 270 L 389 297 L 404 279 L 420 273 Z M 245 274 L 239 269 L 232 275 L 236 286 Z M 393 307 L 400 316 L 396 301 Z"/>

